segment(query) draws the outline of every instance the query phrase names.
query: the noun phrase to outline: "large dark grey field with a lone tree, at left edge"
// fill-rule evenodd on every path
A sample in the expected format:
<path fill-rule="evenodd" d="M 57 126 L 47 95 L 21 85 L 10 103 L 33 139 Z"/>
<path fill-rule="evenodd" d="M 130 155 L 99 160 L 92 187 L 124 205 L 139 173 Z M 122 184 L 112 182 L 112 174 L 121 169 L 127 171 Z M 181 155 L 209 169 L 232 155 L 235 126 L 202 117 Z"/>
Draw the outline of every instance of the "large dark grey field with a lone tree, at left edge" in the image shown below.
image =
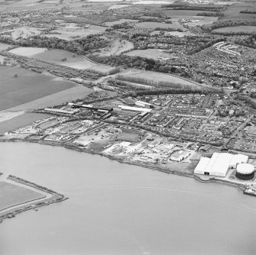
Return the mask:
<path fill-rule="evenodd" d="M 74 86 L 72 82 L 34 73 L 17 66 L 0 66 L 0 77 L 0 110 L 31 102 Z"/>

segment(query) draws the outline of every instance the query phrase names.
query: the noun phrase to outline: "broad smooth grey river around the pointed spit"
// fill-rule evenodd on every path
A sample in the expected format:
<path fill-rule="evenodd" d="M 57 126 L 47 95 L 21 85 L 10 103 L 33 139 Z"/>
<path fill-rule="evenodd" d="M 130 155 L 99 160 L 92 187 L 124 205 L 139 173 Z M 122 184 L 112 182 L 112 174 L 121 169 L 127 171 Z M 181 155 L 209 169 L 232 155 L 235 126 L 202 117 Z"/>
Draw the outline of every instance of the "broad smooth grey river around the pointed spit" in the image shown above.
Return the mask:
<path fill-rule="evenodd" d="M 0 172 L 70 199 L 0 224 L 0 254 L 255 254 L 256 198 L 40 144 L 0 143 Z"/>

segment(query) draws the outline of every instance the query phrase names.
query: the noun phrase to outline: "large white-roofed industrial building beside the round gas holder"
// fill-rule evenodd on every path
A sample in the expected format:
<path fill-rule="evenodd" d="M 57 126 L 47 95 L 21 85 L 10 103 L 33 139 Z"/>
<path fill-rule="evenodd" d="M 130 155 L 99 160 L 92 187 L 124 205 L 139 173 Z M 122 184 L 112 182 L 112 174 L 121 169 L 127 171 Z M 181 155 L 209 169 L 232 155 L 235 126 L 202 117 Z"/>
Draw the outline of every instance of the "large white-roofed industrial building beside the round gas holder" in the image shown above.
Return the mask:
<path fill-rule="evenodd" d="M 229 168 L 235 169 L 238 164 L 247 162 L 248 156 L 243 154 L 213 153 L 210 159 L 201 157 L 194 173 L 225 177 Z"/>

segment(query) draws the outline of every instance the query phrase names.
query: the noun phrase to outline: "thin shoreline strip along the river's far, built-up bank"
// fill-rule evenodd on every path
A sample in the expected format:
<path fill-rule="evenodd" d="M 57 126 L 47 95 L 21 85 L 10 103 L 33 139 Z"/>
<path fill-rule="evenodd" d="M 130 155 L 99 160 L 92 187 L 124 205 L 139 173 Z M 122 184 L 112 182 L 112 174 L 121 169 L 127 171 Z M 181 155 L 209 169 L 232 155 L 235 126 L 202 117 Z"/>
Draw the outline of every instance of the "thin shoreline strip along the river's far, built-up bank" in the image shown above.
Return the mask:
<path fill-rule="evenodd" d="M 125 164 L 129 164 L 129 165 L 133 165 L 133 166 L 141 166 L 145 169 L 151 169 L 151 170 L 157 170 L 161 173 L 166 173 L 166 174 L 173 174 L 176 176 L 185 176 L 185 177 L 189 177 L 189 178 L 193 178 L 198 182 L 203 182 L 203 183 L 219 183 L 219 184 L 225 184 L 228 186 L 233 186 L 235 188 L 241 189 L 241 191 L 245 194 L 245 195 L 253 195 L 256 196 L 256 192 L 250 192 L 250 189 L 248 186 L 246 186 L 245 184 L 239 184 L 237 182 L 232 182 L 232 181 L 228 181 L 226 179 L 216 179 L 215 177 L 210 177 L 209 179 L 202 179 L 200 178 L 200 176 L 196 176 L 193 173 L 189 174 L 189 173 L 179 173 L 177 172 L 177 170 L 171 170 L 167 171 L 166 169 L 160 167 L 160 166 L 153 166 L 152 164 L 149 163 L 139 163 L 137 161 L 131 162 L 129 160 L 124 160 L 124 159 L 120 159 L 118 157 L 112 156 L 112 155 L 108 155 L 108 154 L 104 154 L 104 153 L 97 153 L 95 151 L 92 150 L 86 150 L 86 149 L 80 149 L 79 147 L 76 146 L 70 146 L 69 144 L 62 144 L 62 143 L 53 143 L 53 142 L 44 142 L 44 141 L 39 141 L 38 140 L 21 140 L 21 139 L 14 139 L 14 140 L 1 140 L 1 142 L 25 142 L 25 143 L 34 143 L 34 144 L 43 144 L 43 145 L 50 145 L 53 147 L 64 147 L 66 149 L 69 150 L 76 150 L 78 152 L 81 153 L 89 153 L 89 154 L 96 154 L 102 157 L 106 157 L 109 160 L 115 160 L 118 163 L 125 163 Z"/>

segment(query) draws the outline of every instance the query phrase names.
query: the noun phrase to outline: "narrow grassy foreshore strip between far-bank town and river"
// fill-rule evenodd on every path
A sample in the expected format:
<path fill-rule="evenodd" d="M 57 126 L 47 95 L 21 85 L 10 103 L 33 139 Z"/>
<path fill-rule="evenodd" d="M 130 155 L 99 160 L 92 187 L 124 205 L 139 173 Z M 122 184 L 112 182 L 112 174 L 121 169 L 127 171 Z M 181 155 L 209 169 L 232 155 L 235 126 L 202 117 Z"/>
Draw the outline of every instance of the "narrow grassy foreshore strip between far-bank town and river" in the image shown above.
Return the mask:
<path fill-rule="evenodd" d="M 39 144 L 44 144 L 44 145 L 50 145 L 50 146 L 57 146 L 57 147 L 65 147 L 66 149 L 70 149 L 70 150 L 76 150 L 79 152 L 85 152 L 85 153 L 91 153 L 91 154 L 97 154 L 103 157 L 107 157 L 110 160 L 116 160 L 119 163 L 126 163 L 126 164 L 130 164 L 130 165 L 134 165 L 134 166 L 141 166 L 144 168 L 148 168 L 148 169 L 153 169 L 153 170 L 157 170 L 160 171 L 162 173 L 167 173 L 167 174 L 174 174 L 177 176 L 186 176 L 186 177 L 190 177 L 193 179 L 196 179 L 199 182 L 218 182 L 218 183 L 222 183 L 228 186 L 234 186 L 238 189 L 241 189 L 244 194 L 246 195 L 255 195 L 256 196 L 256 192 L 255 193 L 248 193 L 246 192 L 246 190 L 248 189 L 248 187 L 244 184 L 239 184 L 237 182 L 232 182 L 230 180 L 226 180 L 226 179 L 216 179 L 215 177 L 210 177 L 209 179 L 203 179 L 200 178 L 200 176 L 196 176 L 193 174 L 193 171 L 180 171 L 178 169 L 175 168 L 166 168 L 166 167 L 162 167 L 159 166 L 155 163 L 145 163 L 145 162 L 139 162 L 139 161 L 130 161 L 130 160 L 125 160 L 123 158 L 120 157 L 115 157 L 113 155 L 109 155 L 109 154 L 105 154 L 105 153 L 99 153 L 93 150 L 87 150 L 86 148 L 82 148 L 82 147 L 76 147 L 76 146 L 71 146 L 69 144 L 63 144 L 63 143 L 54 143 L 54 142 L 49 142 L 49 141 L 38 141 L 38 140 L 2 140 L 2 141 L 25 141 L 25 142 L 30 142 L 30 143 L 39 143 Z M 192 166 L 192 163 L 191 163 Z M 191 167 L 190 166 L 190 167 Z"/>

